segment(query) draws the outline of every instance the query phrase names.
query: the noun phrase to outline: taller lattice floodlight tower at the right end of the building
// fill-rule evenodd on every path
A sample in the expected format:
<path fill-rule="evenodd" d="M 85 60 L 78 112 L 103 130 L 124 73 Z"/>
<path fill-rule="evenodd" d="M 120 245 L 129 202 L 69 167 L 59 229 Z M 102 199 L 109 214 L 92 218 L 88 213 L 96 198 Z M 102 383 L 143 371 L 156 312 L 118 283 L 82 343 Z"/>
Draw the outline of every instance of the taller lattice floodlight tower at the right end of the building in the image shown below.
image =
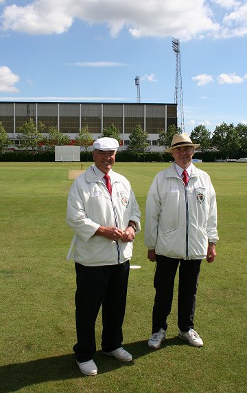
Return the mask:
<path fill-rule="evenodd" d="M 176 54 L 176 81 L 174 102 L 177 104 L 178 127 L 185 132 L 185 120 L 183 113 L 183 89 L 182 89 L 182 73 L 180 61 L 180 42 L 179 39 L 172 38 L 172 50 Z"/>

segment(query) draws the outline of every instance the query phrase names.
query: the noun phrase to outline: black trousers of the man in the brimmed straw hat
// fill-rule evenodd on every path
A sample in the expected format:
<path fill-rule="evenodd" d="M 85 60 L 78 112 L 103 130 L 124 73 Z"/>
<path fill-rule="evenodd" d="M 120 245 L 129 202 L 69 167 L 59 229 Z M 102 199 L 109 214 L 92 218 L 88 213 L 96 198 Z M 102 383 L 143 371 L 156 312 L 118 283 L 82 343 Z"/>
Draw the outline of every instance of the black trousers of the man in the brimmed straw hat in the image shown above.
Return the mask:
<path fill-rule="evenodd" d="M 167 317 L 172 309 L 174 279 L 179 266 L 178 284 L 178 328 L 187 332 L 193 328 L 193 317 L 196 309 L 196 290 L 200 273 L 201 259 L 174 259 L 156 255 L 156 271 L 154 275 L 154 308 L 152 314 L 152 333 L 161 328 L 167 330 Z"/>

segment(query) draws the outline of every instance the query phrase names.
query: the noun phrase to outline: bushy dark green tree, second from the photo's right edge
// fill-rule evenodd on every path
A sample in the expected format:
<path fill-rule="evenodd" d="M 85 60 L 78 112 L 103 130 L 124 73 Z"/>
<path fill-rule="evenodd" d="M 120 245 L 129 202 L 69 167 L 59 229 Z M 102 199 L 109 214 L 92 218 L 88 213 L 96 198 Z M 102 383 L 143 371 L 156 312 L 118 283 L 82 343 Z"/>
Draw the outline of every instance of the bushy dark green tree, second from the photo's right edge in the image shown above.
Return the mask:
<path fill-rule="evenodd" d="M 235 129 L 233 123 L 227 125 L 222 123 L 215 127 L 215 131 L 212 136 L 212 145 L 217 148 L 218 151 L 228 158 L 235 158 L 240 148 L 239 133 Z"/>

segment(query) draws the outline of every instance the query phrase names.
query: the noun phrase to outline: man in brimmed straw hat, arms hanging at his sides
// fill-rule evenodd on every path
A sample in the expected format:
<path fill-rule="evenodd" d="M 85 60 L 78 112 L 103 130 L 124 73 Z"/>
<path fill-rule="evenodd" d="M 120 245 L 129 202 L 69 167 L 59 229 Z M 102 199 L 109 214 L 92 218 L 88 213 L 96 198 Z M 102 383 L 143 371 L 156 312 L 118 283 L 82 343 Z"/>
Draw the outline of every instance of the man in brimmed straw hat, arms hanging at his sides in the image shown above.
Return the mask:
<path fill-rule="evenodd" d="M 165 340 L 178 266 L 178 337 L 191 346 L 203 346 L 193 329 L 196 290 L 202 259 L 213 262 L 218 236 L 215 190 L 209 175 L 191 163 L 199 146 L 188 134 L 174 135 L 171 147 L 165 149 L 174 163 L 156 175 L 148 192 L 145 244 L 148 259 L 156 262 L 148 346 L 154 349 Z"/>

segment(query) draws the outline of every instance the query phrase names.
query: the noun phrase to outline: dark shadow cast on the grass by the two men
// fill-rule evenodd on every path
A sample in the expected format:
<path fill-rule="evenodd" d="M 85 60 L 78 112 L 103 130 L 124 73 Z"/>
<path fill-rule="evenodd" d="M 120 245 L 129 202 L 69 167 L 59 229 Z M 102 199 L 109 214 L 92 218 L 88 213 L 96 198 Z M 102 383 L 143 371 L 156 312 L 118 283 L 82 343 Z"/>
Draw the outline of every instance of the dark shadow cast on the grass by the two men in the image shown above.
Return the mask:
<path fill-rule="evenodd" d="M 174 337 L 165 340 L 161 350 L 166 346 L 179 346 L 183 344 L 183 341 Z M 147 340 L 128 343 L 124 345 L 124 348 L 132 354 L 134 359 L 154 352 L 154 350 L 148 348 Z M 117 361 L 113 357 L 106 357 L 106 355 L 102 354 L 102 351 L 96 352 L 94 360 L 98 366 L 99 374 L 134 365 L 134 360 L 124 363 Z M 75 355 L 72 353 L 58 357 L 47 357 L 45 359 L 28 361 L 26 363 L 13 363 L 0 367 L 0 392 L 16 392 L 25 386 L 32 386 L 38 383 L 83 377 L 87 378 L 80 373 L 77 365 L 75 365 Z"/>

